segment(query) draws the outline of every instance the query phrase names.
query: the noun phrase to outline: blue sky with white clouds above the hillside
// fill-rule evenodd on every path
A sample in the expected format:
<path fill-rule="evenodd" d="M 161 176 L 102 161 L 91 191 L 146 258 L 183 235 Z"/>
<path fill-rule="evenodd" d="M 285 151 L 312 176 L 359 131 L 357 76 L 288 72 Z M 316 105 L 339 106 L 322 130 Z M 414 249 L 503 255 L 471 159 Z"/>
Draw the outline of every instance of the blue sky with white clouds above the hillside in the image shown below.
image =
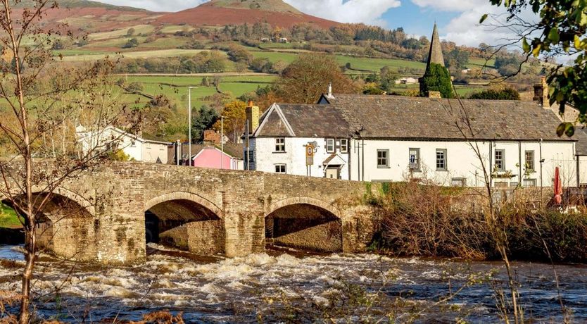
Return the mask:
<path fill-rule="evenodd" d="M 151 11 L 180 11 L 208 0 L 99 0 L 108 4 L 134 6 Z M 284 0 L 298 10 L 341 23 L 366 23 L 389 29 L 403 27 L 408 35 L 431 37 L 434 22 L 441 39 L 459 45 L 504 44 L 507 30 L 479 25 L 484 13 L 503 14 L 489 0 Z M 531 13 L 527 18 L 534 18 Z M 491 22 L 491 18 L 488 22 Z"/>

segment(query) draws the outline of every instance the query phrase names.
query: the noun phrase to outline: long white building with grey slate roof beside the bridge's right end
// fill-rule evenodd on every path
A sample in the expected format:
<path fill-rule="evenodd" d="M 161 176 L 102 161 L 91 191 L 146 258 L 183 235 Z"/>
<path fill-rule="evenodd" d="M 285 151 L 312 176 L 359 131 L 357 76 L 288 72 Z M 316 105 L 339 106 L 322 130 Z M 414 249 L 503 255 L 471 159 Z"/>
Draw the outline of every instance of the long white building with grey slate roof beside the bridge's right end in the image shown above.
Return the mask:
<path fill-rule="evenodd" d="M 329 94 L 319 105 L 274 104 L 251 135 L 254 170 L 439 185 L 576 185 L 576 140 L 536 102 Z M 467 113 L 471 128 L 463 119 Z M 460 126 L 462 132 L 459 130 Z M 306 166 L 305 145 L 317 142 Z M 478 152 L 478 154 L 477 154 Z M 335 169 L 335 170 L 333 170 Z"/>

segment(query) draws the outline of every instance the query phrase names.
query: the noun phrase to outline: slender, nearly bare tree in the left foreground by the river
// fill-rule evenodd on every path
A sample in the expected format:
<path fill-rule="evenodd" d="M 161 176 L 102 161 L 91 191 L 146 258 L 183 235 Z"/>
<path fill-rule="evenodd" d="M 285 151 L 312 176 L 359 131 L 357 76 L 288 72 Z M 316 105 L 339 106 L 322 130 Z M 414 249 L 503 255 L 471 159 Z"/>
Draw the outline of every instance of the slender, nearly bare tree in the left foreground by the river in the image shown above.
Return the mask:
<path fill-rule="evenodd" d="M 118 102 L 120 88 L 111 77 L 111 61 L 88 66 L 54 61 L 44 45 L 51 44 L 65 27 L 51 30 L 42 19 L 55 3 L 30 0 L 19 3 L 18 10 L 13 4 L 8 0 L 0 4 L 0 45 L 15 64 L 14 68 L 0 67 L 0 142 L 9 153 L 0 161 L 0 199 L 23 218 L 25 266 L 18 322 L 25 324 L 31 321 L 32 279 L 39 256 L 37 224 L 45 215 L 44 208 L 64 182 L 103 163 L 108 157 L 106 147 L 120 140 L 108 137 L 103 142 L 84 142 L 82 148 L 78 132 L 101 137 L 107 125 L 122 124 L 133 130 L 136 123 Z M 23 63 L 26 70 L 21 68 Z"/>

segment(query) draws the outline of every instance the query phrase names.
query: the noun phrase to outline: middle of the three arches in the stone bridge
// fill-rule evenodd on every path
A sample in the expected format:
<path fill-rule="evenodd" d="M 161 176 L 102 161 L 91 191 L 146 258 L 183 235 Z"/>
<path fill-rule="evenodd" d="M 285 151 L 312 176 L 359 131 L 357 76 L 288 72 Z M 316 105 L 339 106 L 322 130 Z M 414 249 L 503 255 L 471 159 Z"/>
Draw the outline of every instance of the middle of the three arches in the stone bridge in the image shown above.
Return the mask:
<path fill-rule="evenodd" d="M 195 254 L 225 254 L 222 209 L 191 192 L 168 192 L 146 201 L 145 241 Z"/>

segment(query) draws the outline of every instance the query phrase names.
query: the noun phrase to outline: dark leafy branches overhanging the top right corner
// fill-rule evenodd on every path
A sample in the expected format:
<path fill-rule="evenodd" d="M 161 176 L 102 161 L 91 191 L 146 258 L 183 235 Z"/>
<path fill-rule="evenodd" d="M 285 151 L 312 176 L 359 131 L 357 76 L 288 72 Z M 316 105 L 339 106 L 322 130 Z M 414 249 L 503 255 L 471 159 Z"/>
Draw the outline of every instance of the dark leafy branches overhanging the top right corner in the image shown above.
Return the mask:
<path fill-rule="evenodd" d="M 579 110 L 576 122 L 584 122 L 587 114 L 587 1 L 574 0 L 490 0 L 493 6 L 505 6 L 510 15 L 503 27 L 516 30 L 518 37 L 509 44 L 522 43 L 526 59 L 530 56 L 548 58 L 568 56 L 568 66 L 559 64 L 548 70 L 551 85 L 550 104 L 560 104 L 564 113 L 567 103 Z M 531 10 L 536 21 L 526 22 L 519 15 Z M 483 23 L 488 17 L 481 17 Z M 574 134 L 574 123 L 562 123 L 557 130 L 561 136 Z"/>

